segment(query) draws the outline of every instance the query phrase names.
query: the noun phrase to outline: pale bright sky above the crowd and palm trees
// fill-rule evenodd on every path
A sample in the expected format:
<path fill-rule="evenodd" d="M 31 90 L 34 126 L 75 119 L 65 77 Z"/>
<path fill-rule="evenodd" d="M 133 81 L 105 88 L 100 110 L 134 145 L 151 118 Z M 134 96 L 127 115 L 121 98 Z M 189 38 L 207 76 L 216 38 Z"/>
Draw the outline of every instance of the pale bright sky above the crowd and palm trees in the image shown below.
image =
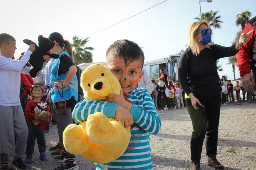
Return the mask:
<path fill-rule="evenodd" d="M 149 50 L 149 59 L 166 58 L 185 49 L 188 44 L 188 26 L 200 15 L 198 0 L 168 0 L 129 20 L 111 28 L 92 34 L 144 11 L 158 3 L 158 0 L 0 0 L 0 32 L 9 33 L 16 38 L 15 57 L 27 49 L 22 41 L 37 37 L 48 37 L 59 32 L 65 40 L 72 36 L 86 38 L 90 35 L 88 46 L 94 62 L 104 62 L 107 48 L 116 40 L 128 39 Z M 236 15 L 248 10 L 251 18 L 256 16 L 256 0 L 213 0 L 201 2 L 202 12 L 219 11 L 223 23 L 221 29 L 214 30 L 212 40 L 222 46 L 230 46 L 240 30 L 235 25 Z M 147 59 L 147 50 L 142 49 Z M 219 74 L 233 78 L 231 65 L 221 59 Z M 239 72 L 236 70 L 236 78 Z"/>

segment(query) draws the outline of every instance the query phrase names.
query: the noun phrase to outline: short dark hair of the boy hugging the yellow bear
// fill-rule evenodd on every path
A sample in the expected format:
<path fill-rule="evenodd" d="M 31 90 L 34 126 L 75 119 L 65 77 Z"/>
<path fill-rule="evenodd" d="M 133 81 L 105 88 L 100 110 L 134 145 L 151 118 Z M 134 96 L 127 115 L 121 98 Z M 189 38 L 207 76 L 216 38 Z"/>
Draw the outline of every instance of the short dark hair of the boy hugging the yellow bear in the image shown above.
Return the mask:
<path fill-rule="evenodd" d="M 137 43 L 129 40 L 117 40 L 107 49 L 106 65 L 114 60 L 115 57 L 123 58 L 125 64 L 127 61 L 142 60 L 144 64 L 144 53 Z M 142 67 L 141 67 L 142 69 Z"/>

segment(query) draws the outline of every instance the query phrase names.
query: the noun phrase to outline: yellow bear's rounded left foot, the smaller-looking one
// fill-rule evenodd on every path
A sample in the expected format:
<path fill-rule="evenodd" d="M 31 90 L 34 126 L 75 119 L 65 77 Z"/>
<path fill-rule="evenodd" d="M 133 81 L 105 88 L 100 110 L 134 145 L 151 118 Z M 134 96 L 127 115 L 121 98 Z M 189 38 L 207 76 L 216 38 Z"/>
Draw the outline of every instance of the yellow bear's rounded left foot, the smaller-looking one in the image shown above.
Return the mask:
<path fill-rule="evenodd" d="M 63 132 L 63 144 L 67 152 L 80 155 L 87 151 L 89 141 L 86 130 L 76 124 L 70 124 Z"/>

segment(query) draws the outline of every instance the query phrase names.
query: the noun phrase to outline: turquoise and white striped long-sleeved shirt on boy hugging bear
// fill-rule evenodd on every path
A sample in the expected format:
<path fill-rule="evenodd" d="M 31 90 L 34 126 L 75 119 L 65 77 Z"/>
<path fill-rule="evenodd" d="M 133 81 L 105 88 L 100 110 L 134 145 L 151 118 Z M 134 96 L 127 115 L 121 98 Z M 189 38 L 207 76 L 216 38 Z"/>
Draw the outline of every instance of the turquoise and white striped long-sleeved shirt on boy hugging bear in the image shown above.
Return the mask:
<path fill-rule="evenodd" d="M 108 170 L 150 170 L 153 169 L 150 154 L 150 133 L 158 134 L 161 120 L 154 102 L 145 88 L 135 88 L 125 95 L 132 105 L 131 114 L 134 124 L 131 127 L 131 140 L 125 153 L 113 162 L 105 163 Z M 118 104 L 107 101 L 83 100 L 76 104 L 72 117 L 77 123 L 87 120 L 88 115 L 102 112 L 107 117 L 114 117 Z M 97 170 L 103 170 L 95 163 Z"/>

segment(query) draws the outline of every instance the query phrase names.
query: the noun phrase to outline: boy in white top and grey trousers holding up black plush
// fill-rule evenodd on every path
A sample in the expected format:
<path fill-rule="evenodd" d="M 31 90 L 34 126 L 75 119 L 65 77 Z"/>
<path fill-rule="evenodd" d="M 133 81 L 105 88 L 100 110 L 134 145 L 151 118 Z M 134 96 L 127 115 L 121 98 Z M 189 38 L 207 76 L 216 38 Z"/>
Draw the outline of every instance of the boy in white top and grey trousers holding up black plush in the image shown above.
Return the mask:
<path fill-rule="evenodd" d="M 16 40 L 6 33 L 0 34 L 0 143 L 1 169 L 27 169 L 21 159 L 24 153 L 28 127 L 20 105 L 20 73 L 29 74 L 24 67 L 30 55 L 35 51 L 35 44 L 29 46 L 18 61 L 12 59 L 16 50 Z"/>

